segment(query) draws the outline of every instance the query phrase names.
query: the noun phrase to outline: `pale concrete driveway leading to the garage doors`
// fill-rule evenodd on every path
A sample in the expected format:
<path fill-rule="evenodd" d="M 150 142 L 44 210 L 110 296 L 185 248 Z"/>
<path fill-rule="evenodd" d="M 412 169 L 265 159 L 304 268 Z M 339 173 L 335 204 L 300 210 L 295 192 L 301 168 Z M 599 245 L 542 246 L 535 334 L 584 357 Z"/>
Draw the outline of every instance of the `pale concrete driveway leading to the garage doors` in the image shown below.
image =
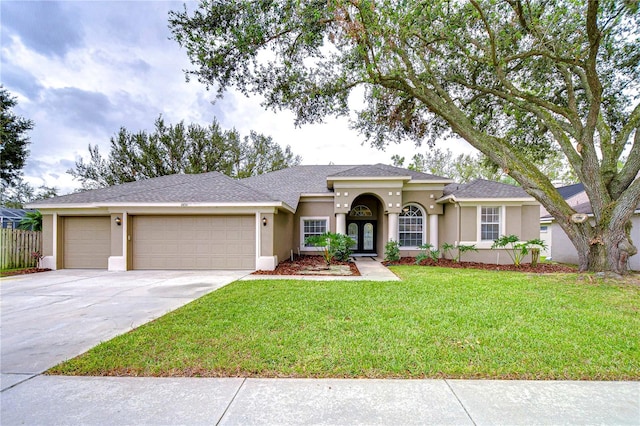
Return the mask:
<path fill-rule="evenodd" d="M 61 270 L 2 278 L 2 390 L 249 271 Z"/>

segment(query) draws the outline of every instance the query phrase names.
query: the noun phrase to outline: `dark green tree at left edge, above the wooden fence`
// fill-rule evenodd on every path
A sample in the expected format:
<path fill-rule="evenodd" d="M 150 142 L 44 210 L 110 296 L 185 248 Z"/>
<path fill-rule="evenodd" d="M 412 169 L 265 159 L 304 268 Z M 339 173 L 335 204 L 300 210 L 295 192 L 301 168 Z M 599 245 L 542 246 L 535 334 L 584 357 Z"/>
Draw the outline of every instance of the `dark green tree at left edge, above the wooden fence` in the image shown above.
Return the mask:
<path fill-rule="evenodd" d="M 22 175 L 22 168 L 29 156 L 29 137 L 33 121 L 16 116 L 12 109 L 18 104 L 7 89 L 0 86 L 0 183 L 11 186 Z"/>

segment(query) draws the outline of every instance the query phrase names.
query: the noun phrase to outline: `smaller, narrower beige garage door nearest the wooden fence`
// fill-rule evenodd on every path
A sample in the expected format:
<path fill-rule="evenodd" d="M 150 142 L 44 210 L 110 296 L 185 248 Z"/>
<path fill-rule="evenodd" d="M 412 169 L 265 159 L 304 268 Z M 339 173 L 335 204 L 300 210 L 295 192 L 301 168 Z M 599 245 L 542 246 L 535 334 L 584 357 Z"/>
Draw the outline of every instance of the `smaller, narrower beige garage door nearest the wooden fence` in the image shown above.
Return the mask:
<path fill-rule="evenodd" d="M 107 269 L 110 253 L 109 217 L 64 218 L 64 268 Z"/>

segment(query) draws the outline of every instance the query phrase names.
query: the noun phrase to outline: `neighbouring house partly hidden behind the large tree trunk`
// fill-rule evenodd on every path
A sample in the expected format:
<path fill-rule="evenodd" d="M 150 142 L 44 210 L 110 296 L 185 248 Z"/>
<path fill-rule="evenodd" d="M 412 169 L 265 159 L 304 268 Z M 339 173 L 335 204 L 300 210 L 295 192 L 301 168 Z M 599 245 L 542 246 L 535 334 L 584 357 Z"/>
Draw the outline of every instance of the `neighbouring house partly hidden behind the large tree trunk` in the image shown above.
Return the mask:
<path fill-rule="evenodd" d="M 583 197 L 586 199 L 586 202 L 582 202 L 579 204 L 570 204 L 576 213 L 583 213 L 589 216 L 592 216 L 591 211 L 591 203 L 588 201 L 588 197 L 584 193 L 575 195 L 574 197 L 578 198 Z M 558 225 L 555 219 L 547 213 L 547 216 L 540 218 L 540 224 L 545 224 L 544 226 L 548 227 L 549 234 L 551 235 L 551 247 L 553 247 L 551 254 L 553 260 L 561 263 L 578 263 L 578 251 L 571 243 L 571 240 L 564 232 L 564 230 Z M 631 218 L 631 241 L 633 241 L 636 245 L 640 242 L 640 206 L 634 212 L 634 215 Z M 634 255 L 629 258 L 629 269 L 633 271 L 640 271 L 640 256 Z"/>

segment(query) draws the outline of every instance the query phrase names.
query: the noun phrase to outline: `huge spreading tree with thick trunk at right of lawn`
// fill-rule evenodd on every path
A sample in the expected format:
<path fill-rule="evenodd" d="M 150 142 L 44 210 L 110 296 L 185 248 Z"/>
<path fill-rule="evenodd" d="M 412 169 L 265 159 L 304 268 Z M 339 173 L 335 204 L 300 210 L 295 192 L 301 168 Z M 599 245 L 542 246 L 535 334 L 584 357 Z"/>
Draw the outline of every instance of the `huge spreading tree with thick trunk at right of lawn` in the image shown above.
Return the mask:
<path fill-rule="evenodd" d="M 310 123 L 363 92 L 353 125 L 374 145 L 461 136 L 555 217 L 582 270 L 621 273 L 637 252 L 639 21 L 637 1 L 616 0 L 211 0 L 170 16 L 188 75 L 220 95 L 258 94 Z M 536 167 L 553 151 L 593 222 L 574 223 Z"/>

